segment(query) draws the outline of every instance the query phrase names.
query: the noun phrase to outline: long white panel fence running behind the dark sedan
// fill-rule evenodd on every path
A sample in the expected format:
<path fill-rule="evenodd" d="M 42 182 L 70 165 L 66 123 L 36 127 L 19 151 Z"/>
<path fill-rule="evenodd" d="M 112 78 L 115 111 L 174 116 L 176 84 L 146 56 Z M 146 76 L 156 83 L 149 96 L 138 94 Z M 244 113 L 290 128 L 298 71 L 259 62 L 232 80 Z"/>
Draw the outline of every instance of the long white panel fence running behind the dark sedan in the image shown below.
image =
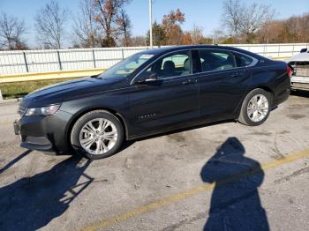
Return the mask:
<path fill-rule="evenodd" d="M 296 55 L 307 43 L 284 44 L 235 44 L 261 56 L 287 57 Z M 109 68 L 114 63 L 147 47 L 132 48 L 72 48 L 18 50 L 0 52 L 0 77 L 27 72 L 78 71 Z"/>

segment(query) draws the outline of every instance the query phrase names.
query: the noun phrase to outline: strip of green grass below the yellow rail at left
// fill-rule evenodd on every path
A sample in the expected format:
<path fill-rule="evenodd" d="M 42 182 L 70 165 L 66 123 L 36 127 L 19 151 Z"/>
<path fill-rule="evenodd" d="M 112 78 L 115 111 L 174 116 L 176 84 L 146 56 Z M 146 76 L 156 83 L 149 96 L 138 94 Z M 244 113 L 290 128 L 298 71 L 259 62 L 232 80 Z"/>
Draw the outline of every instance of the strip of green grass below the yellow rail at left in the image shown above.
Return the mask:
<path fill-rule="evenodd" d="M 72 79 L 74 78 L 7 83 L 7 84 L 0 84 L 0 89 L 4 99 L 14 99 L 23 97 L 28 93 L 32 93 L 35 90 L 40 89 L 41 87 L 54 85 Z"/>

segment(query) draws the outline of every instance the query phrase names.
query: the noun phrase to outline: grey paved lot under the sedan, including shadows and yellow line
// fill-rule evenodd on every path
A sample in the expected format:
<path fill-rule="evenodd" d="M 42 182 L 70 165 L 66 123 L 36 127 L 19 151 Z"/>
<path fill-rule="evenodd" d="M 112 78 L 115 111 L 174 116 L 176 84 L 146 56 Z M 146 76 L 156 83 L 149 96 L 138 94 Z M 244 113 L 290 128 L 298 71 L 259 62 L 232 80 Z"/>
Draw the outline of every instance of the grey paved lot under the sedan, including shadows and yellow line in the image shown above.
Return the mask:
<path fill-rule="evenodd" d="M 259 127 L 180 130 L 95 161 L 20 148 L 17 107 L 0 105 L 0 230 L 309 230 L 309 93 Z"/>

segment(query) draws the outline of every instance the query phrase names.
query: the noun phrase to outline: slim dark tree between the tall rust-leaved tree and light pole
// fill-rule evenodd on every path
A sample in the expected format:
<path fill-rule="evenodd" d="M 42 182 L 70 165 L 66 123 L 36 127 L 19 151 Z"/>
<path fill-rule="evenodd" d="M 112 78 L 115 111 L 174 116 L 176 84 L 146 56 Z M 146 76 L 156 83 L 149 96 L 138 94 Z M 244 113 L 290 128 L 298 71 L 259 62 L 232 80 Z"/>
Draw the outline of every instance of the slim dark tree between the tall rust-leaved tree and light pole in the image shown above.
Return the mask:
<path fill-rule="evenodd" d="M 121 9 L 118 16 L 117 16 L 117 25 L 119 34 L 123 35 L 122 44 L 124 47 L 130 46 L 130 37 L 132 35 L 132 23 L 129 18 L 129 15 L 124 11 L 124 9 Z"/>

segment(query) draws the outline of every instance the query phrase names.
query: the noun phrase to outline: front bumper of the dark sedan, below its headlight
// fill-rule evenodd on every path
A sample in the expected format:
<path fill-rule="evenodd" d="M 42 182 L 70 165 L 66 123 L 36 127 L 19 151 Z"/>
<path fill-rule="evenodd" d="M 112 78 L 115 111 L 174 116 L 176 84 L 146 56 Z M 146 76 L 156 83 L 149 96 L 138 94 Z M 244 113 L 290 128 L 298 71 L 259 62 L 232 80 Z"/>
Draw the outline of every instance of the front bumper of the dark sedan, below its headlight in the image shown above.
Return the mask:
<path fill-rule="evenodd" d="M 57 111 L 49 116 L 23 116 L 13 124 L 20 137 L 20 146 L 49 154 L 62 154 L 69 150 L 67 128 L 72 115 Z"/>

